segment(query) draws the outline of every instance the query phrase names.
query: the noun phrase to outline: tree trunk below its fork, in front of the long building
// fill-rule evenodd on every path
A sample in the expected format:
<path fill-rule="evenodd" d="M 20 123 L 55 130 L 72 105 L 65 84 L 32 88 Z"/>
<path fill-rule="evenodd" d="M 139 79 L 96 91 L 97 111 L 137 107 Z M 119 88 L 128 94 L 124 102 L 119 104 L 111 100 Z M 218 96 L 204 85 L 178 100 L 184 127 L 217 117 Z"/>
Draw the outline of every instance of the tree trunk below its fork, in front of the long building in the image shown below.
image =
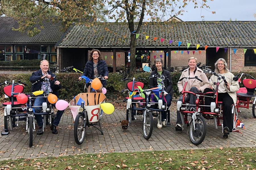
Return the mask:
<path fill-rule="evenodd" d="M 129 77 L 132 77 L 136 73 L 136 58 L 135 58 L 135 51 L 136 51 L 137 41 L 135 35 L 131 35 L 131 42 L 130 42 L 130 73 Z"/>

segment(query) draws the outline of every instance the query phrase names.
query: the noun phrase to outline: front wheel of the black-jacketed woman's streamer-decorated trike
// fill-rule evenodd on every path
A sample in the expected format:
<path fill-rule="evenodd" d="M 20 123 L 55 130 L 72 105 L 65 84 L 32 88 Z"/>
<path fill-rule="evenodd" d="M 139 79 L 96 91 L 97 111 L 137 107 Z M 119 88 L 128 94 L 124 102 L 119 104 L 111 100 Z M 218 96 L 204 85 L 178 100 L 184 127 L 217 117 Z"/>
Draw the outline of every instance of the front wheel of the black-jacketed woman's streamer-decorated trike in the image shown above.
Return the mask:
<path fill-rule="evenodd" d="M 143 135 L 146 140 L 148 140 L 153 131 L 153 116 L 151 112 L 146 112 L 146 116 L 144 116 L 145 123 L 143 121 Z"/>

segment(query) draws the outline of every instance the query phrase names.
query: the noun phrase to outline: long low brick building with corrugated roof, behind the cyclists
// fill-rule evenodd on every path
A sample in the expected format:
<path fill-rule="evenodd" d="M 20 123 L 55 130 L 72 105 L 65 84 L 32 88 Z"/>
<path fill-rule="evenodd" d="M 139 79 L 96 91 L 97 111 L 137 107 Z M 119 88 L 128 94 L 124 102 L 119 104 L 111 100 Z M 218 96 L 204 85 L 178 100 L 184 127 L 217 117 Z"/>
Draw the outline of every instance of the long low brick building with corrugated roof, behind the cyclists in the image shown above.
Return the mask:
<path fill-rule="evenodd" d="M 187 65 L 189 57 L 195 56 L 198 62 L 211 67 L 218 58 L 225 58 L 232 71 L 256 71 L 255 27 L 255 21 L 146 22 L 138 33 L 136 65 L 143 67 L 149 60 L 153 62 L 154 56 L 162 55 L 165 65 L 181 67 Z M 146 35 L 150 37 L 145 39 Z M 134 35 L 125 23 L 98 23 L 91 27 L 72 25 L 55 45 L 58 64 L 81 68 L 88 60 L 88 52 L 96 48 L 104 59 L 106 56 L 109 65 L 129 67 L 130 36 Z M 154 37 L 157 37 L 155 41 Z M 178 41 L 182 42 L 180 46 Z M 191 43 L 189 48 L 187 43 Z M 198 49 L 196 44 L 200 44 Z M 220 47 L 218 52 L 216 47 Z M 248 50 L 244 53 L 243 49 Z"/>

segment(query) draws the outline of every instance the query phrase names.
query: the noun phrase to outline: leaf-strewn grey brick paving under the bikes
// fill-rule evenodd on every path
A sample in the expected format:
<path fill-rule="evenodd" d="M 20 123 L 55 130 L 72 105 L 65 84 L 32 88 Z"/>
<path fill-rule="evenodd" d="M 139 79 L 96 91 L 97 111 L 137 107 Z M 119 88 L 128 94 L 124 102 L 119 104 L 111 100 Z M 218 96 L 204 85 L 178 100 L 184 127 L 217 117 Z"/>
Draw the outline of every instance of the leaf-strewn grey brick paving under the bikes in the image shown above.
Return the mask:
<path fill-rule="evenodd" d="M 174 108 L 175 104 L 172 110 Z M 171 112 L 172 125 L 169 127 L 158 129 L 156 127 L 157 120 L 154 119 L 153 133 L 147 141 L 142 134 L 142 117 L 138 116 L 139 120 L 135 120 L 127 130 L 122 130 L 119 121 L 125 118 L 125 112 L 120 110 L 116 110 L 111 115 L 104 115 L 102 120 L 104 135 L 101 135 L 95 128 L 87 128 L 84 143 L 77 145 L 73 135 L 73 119 L 68 110 L 65 111 L 61 119 L 58 128 L 59 134 L 53 135 L 49 126 L 43 135 L 37 136 L 34 132 L 32 148 L 28 147 L 28 134 L 24 130 L 25 124 L 19 122 L 19 127 L 15 128 L 10 135 L 0 137 L 0 160 L 79 153 L 256 146 L 256 119 L 253 118 L 251 109 L 243 109 L 243 111 L 248 118 L 241 118 L 241 113 L 238 115 L 246 127 L 246 129 L 240 129 L 242 134 L 233 132 L 228 139 L 224 139 L 221 129 L 216 130 L 213 121 L 207 120 L 205 140 L 201 145 L 195 146 L 189 140 L 187 128 L 183 132 L 175 131 L 176 114 L 174 111 Z M 0 123 L 0 128 L 3 128 L 3 117 L 0 118 Z"/>

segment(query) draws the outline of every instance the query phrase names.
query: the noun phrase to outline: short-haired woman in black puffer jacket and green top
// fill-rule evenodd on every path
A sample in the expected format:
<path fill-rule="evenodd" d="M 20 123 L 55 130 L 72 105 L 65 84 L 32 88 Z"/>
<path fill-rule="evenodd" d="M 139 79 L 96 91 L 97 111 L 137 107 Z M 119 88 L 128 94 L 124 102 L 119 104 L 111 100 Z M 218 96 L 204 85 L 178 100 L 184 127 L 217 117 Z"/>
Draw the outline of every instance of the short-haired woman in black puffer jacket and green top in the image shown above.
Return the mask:
<path fill-rule="evenodd" d="M 163 69 L 162 65 L 163 65 L 163 60 L 161 58 L 156 58 L 155 59 L 155 65 L 156 65 L 156 70 L 153 71 L 151 73 L 151 75 L 155 75 L 155 74 L 159 74 L 159 75 L 164 75 L 165 79 L 164 79 L 164 90 L 168 93 L 166 95 L 164 95 L 164 101 L 167 104 L 167 107 L 170 107 L 171 105 L 171 101 L 172 101 L 172 94 L 173 94 L 173 89 L 172 89 L 172 78 L 170 75 L 170 72 Z M 149 85 L 150 88 L 154 88 L 157 87 L 159 84 L 157 82 L 157 77 L 154 78 L 150 78 L 149 79 Z M 153 99 L 155 102 L 158 102 L 156 97 L 154 97 Z M 162 128 L 162 126 L 166 126 L 166 113 L 167 111 L 164 112 L 164 114 L 162 114 L 162 124 L 160 124 L 159 120 L 158 120 L 158 124 L 157 124 L 157 128 Z"/>

